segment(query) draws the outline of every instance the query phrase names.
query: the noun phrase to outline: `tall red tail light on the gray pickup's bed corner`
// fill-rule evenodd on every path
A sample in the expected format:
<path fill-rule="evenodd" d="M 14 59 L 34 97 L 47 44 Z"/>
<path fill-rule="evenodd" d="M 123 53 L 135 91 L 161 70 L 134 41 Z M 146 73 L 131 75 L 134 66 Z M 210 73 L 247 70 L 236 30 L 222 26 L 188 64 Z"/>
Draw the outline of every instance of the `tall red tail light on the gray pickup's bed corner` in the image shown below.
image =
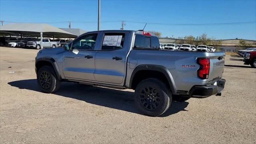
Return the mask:
<path fill-rule="evenodd" d="M 200 65 L 200 68 L 197 71 L 197 76 L 202 79 L 207 79 L 209 77 L 210 59 L 198 58 L 197 63 Z"/>

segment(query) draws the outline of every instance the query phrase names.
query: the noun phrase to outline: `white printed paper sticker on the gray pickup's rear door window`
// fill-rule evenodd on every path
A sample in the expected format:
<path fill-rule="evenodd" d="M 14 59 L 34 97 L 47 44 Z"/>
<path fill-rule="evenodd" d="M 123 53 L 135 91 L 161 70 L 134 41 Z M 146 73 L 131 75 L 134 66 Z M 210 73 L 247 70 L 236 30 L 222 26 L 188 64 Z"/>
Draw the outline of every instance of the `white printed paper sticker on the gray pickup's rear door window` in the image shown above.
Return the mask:
<path fill-rule="evenodd" d="M 121 36 L 104 36 L 103 46 L 120 46 L 122 40 Z"/>

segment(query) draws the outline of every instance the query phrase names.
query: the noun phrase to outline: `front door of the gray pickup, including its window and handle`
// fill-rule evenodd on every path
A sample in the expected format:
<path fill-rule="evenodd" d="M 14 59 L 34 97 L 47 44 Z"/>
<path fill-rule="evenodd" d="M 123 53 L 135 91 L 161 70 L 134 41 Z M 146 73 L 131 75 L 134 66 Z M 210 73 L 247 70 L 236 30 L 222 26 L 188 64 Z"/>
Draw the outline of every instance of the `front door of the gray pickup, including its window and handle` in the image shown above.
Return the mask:
<path fill-rule="evenodd" d="M 62 62 L 66 79 L 95 80 L 94 59 L 98 33 L 86 34 L 72 42 L 71 50 L 64 53 Z"/>

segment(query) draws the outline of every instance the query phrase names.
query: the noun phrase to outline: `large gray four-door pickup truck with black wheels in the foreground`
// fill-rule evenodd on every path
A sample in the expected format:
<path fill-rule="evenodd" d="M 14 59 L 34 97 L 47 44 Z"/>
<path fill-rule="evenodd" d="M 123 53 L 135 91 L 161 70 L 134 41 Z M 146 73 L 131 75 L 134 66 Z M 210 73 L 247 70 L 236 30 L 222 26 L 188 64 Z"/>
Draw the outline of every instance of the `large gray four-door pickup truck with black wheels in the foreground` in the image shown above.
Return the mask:
<path fill-rule="evenodd" d="M 46 93 L 56 92 L 62 81 L 133 89 L 138 108 L 149 116 L 163 114 L 174 100 L 221 95 L 223 52 L 159 47 L 158 38 L 142 30 L 87 32 L 63 48 L 38 52 L 38 86 Z"/>

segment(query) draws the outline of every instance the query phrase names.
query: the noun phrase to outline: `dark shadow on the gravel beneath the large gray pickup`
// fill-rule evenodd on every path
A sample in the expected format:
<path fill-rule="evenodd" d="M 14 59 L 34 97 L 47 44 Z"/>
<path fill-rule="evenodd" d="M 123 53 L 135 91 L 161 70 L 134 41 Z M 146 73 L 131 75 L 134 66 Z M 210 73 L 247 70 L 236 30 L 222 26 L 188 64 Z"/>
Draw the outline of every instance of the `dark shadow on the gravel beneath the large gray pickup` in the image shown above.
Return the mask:
<path fill-rule="evenodd" d="M 18 80 L 8 82 L 10 86 L 20 89 L 34 90 L 41 92 L 37 85 L 36 79 Z M 111 88 L 103 88 L 96 86 L 86 86 L 73 82 L 63 82 L 60 89 L 54 94 L 68 98 L 82 100 L 90 104 L 106 106 L 118 110 L 124 110 L 136 114 L 142 114 L 138 111 L 134 103 L 134 92 L 116 90 Z M 184 110 L 188 106 L 188 102 L 172 102 L 171 107 L 161 117 L 170 116 Z M 143 115 L 143 114 L 142 114 Z"/>

